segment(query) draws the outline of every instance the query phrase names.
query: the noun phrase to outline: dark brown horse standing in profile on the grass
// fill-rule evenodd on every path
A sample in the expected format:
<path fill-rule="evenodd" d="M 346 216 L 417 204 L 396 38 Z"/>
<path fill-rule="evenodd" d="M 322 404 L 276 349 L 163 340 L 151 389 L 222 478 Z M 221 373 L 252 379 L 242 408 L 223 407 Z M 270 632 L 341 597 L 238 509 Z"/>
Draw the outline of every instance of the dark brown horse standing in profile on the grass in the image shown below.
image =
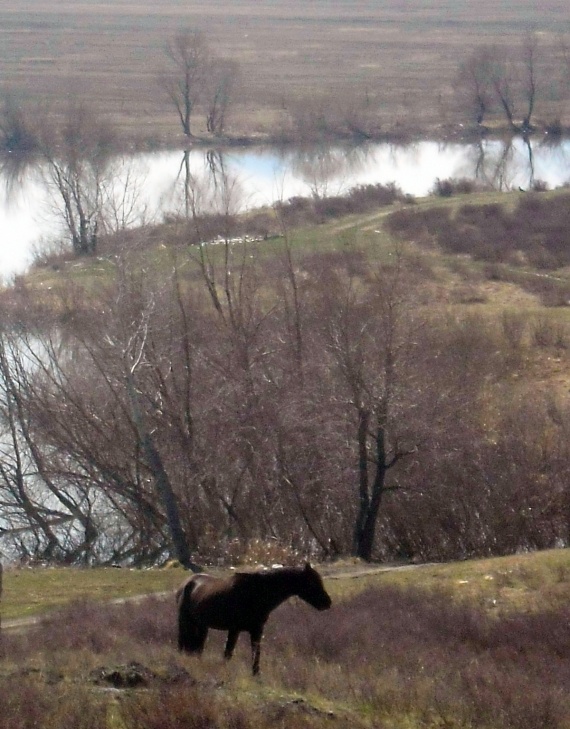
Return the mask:
<path fill-rule="evenodd" d="M 317 610 L 327 610 L 331 599 L 319 573 L 304 567 L 279 567 L 264 572 L 237 572 L 221 579 L 194 575 L 176 593 L 178 647 L 201 653 L 208 629 L 227 630 L 224 657 L 232 657 L 239 634 L 249 633 L 253 674 L 259 673 L 261 636 L 272 610 L 297 595 Z"/>

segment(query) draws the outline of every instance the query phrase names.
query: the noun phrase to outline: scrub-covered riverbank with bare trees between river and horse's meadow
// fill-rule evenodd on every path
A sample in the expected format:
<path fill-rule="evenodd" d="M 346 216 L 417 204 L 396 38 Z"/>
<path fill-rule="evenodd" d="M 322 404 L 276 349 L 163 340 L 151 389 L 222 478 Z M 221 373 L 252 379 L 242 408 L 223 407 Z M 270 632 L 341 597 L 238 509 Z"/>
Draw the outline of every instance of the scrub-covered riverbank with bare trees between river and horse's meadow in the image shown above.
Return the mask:
<path fill-rule="evenodd" d="M 191 566 L 568 543 L 564 193 L 373 186 L 212 218 L 187 192 L 189 218 L 4 292 L 11 549 Z"/>

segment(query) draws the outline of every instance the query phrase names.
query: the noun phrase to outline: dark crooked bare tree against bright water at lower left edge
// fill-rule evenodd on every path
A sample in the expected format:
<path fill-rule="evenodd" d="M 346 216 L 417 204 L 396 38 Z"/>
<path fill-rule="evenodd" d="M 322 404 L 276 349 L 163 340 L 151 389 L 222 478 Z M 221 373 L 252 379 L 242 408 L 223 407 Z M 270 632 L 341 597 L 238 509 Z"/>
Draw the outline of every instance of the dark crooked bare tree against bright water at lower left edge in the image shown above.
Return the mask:
<path fill-rule="evenodd" d="M 44 356 L 49 359 L 37 340 L 32 343 L 22 333 L 1 333 L 0 506 L 4 532 L 20 534 L 20 543 L 27 542 L 30 556 L 88 561 L 98 535 L 90 509 L 90 487 L 71 476 L 69 461 L 68 478 L 61 478 L 56 454 L 35 418 L 37 362 Z"/>

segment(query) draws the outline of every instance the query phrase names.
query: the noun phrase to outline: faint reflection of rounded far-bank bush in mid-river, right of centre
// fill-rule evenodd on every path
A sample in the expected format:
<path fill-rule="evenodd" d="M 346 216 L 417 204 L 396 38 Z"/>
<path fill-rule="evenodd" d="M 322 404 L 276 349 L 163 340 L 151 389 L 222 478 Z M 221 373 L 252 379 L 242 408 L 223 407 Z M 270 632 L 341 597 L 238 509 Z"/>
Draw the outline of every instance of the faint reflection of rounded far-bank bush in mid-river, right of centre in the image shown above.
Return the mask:
<path fill-rule="evenodd" d="M 308 186 L 316 198 L 346 191 L 347 181 L 366 163 L 368 145 L 331 147 L 319 145 L 293 152 L 288 160 L 291 170 Z M 335 183 L 335 189 L 331 185 Z"/>

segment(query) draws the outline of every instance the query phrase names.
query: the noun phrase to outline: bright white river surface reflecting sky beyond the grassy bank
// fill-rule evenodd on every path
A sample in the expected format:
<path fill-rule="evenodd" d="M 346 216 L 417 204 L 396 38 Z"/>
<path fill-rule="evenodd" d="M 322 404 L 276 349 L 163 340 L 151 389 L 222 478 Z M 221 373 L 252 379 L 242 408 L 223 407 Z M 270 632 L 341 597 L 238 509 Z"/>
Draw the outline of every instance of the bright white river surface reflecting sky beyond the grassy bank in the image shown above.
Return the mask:
<path fill-rule="evenodd" d="M 42 185 L 41 166 L 17 155 L 0 165 L 0 273 L 9 276 L 29 265 L 38 241 L 61 237 L 61 222 Z M 539 181 L 558 187 L 570 178 L 570 141 L 174 151 L 117 159 L 113 171 L 105 216 L 116 228 L 166 214 L 338 195 L 357 184 L 395 183 L 416 196 L 428 194 L 438 178 L 467 178 L 499 191 L 526 190 Z"/>

